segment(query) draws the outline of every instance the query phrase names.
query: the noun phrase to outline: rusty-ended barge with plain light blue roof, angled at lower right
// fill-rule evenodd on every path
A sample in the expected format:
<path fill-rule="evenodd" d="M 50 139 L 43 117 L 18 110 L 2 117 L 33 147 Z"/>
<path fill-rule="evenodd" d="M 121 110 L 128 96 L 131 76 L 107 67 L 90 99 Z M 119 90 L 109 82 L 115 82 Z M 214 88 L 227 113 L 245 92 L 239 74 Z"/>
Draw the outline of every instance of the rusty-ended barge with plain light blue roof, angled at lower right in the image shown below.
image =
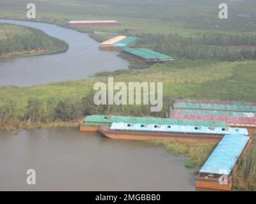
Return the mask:
<path fill-rule="evenodd" d="M 248 135 L 226 135 L 196 177 L 196 188 L 230 191 L 232 170 L 252 140 Z"/>

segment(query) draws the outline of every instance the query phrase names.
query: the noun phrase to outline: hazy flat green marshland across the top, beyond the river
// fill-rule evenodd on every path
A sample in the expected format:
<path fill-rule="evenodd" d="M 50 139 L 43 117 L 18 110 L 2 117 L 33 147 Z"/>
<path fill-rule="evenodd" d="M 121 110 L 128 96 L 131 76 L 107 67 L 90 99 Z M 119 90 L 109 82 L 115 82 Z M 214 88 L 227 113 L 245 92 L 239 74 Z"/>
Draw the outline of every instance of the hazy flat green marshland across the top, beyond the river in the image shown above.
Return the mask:
<path fill-rule="evenodd" d="M 35 0 L 39 21 L 65 24 L 68 20 L 118 20 L 121 27 L 96 28 L 101 31 L 135 33 L 198 33 L 198 31 L 254 32 L 254 1 L 211 0 Z M 218 18 L 218 4 L 227 3 L 229 19 Z M 3 0 L 0 17 L 26 19 L 25 0 Z M 244 17 L 244 15 L 247 15 Z M 83 29 L 83 28 L 81 28 Z"/>

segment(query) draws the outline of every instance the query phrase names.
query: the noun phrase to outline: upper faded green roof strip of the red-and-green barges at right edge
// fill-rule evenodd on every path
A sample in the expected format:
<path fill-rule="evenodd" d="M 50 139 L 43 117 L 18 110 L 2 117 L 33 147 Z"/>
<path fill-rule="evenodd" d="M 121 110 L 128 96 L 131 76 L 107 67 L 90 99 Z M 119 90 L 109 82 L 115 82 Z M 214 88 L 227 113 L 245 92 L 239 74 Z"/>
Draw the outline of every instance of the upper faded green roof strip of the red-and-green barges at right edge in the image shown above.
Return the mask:
<path fill-rule="evenodd" d="M 223 104 L 209 104 L 209 103 L 176 102 L 173 104 L 173 107 L 174 108 L 186 108 L 186 109 L 202 109 L 202 110 L 256 112 L 256 106 L 244 106 L 244 105 L 223 105 Z"/>

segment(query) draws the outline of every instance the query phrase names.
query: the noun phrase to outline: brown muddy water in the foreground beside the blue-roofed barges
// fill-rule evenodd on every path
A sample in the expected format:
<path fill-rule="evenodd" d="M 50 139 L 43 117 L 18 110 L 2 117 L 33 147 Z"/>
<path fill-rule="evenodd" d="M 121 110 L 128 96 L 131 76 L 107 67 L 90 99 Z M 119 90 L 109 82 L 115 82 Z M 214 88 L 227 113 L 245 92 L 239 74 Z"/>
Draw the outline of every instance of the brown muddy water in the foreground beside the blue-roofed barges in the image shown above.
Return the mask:
<path fill-rule="evenodd" d="M 186 158 L 76 128 L 0 135 L 0 191 L 195 191 Z M 36 185 L 26 171 L 36 171 Z"/>

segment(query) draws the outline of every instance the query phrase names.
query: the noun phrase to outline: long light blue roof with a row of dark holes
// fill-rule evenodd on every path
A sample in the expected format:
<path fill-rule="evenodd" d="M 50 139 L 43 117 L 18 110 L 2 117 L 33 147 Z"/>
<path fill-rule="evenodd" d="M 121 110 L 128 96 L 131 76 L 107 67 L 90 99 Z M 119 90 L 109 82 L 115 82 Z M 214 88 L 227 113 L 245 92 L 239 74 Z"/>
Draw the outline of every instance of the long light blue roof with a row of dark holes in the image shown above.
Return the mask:
<path fill-rule="evenodd" d="M 167 126 L 159 124 L 130 124 L 124 122 L 113 122 L 110 129 L 131 131 L 157 131 L 170 133 L 198 133 L 212 135 L 248 135 L 246 128 L 211 128 L 205 126 Z"/>

